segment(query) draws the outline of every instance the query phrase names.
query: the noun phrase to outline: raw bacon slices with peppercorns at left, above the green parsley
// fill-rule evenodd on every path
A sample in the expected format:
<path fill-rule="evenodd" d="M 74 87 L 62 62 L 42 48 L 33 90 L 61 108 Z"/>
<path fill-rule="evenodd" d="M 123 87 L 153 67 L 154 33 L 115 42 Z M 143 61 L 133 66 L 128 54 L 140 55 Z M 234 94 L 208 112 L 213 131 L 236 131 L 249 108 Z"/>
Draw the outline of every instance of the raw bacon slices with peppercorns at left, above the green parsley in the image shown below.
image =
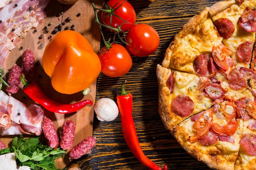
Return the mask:
<path fill-rule="evenodd" d="M 0 91 L 0 135 L 41 135 L 45 111 L 26 104 Z"/>

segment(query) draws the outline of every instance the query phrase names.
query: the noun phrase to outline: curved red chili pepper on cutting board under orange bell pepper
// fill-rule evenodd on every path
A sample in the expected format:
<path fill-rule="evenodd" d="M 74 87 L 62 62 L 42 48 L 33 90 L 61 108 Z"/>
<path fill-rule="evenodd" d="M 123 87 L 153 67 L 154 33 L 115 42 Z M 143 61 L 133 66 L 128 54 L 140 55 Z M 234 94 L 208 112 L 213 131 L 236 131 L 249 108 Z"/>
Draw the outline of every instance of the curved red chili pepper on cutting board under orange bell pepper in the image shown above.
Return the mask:
<path fill-rule="evenodd" d="M 24 84 L 23 91 L 36 103 L 41 104 L 45 109 L 51 112 L 63 114 L 73 113 L 80 110 L 87 104 L 93 104 L 91 100 L 83 100 L 73 104 L 58 103 L 49 99 L 35 82 L 26 82 L 23 77 L 21 80 Z"/>

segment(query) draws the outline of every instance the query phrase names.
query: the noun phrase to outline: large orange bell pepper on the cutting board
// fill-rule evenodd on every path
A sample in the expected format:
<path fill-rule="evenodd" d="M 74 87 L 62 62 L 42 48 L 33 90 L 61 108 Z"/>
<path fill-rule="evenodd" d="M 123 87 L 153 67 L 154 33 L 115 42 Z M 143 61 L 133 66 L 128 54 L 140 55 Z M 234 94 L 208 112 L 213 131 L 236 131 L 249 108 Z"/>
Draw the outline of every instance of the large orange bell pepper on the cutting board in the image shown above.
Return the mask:
<path fill-rule="evenodd" d="M 57 33 L 43 54 L 43 69 L 59 93 L 74 94 L 88 88 L 99 76 L 101 62 L 80 33 Z"/>

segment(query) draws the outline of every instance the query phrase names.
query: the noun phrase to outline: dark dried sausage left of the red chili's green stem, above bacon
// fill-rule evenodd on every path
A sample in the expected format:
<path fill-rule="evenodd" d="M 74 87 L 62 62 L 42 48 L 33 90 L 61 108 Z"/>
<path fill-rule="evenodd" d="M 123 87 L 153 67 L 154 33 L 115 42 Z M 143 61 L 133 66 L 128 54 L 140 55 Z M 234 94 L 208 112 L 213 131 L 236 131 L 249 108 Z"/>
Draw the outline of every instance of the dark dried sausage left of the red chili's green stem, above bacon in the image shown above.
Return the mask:
<path fill-rule="evenodd" d="M 22 70 L 20 66 L 14 64 L 14 66 L 12 66 L 9 71 L 9 77 L 7 80 L 7 84 L 9 85 L 9 87 L 6 86 L 6 91 L 8 93 L 15 94 L 18 92 L 20 88 L 21 75 Z"/>

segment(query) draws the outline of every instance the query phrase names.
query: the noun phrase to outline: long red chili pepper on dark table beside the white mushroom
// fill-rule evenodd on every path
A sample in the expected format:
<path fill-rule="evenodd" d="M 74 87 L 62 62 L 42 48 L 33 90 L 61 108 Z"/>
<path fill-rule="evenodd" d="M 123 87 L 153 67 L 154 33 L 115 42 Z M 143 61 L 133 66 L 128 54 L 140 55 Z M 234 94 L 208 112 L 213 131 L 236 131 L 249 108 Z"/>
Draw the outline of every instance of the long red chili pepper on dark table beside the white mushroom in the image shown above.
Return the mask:
<path fill-rule="evenodd" d="M 121 95 L 117 95 L 117 106 L 121 116 L 121 126 L 126 144 L 132 151 L 132 154 L 150 170 L 162 170 L 155 163 L 150 161 L 139 145 L 134 121 L 132 118 L 132 94 L 124 90 L 124 83 L 121 88 Z M 164 170 L 167 166 L 164 165 Z"/>

